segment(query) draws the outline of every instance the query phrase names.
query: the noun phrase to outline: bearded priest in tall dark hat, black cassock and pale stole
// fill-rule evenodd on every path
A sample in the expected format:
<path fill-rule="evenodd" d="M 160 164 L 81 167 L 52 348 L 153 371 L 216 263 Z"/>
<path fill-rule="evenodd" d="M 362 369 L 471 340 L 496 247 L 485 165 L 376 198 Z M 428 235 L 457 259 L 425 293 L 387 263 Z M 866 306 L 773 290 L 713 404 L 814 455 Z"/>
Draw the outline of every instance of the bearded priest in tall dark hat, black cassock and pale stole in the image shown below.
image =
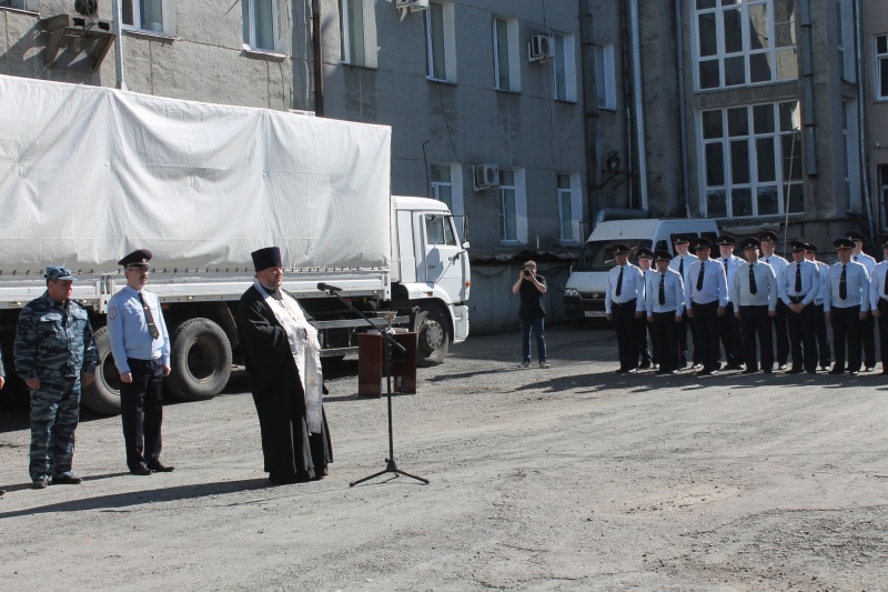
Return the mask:
<path fill-rule="evenodd" d="M 238 302 L 238 333 L 272 483 L 321 479 L 333 462 L 317 330 L 281 290 L 281 250 L 254 251 L 256 281 Z"/>

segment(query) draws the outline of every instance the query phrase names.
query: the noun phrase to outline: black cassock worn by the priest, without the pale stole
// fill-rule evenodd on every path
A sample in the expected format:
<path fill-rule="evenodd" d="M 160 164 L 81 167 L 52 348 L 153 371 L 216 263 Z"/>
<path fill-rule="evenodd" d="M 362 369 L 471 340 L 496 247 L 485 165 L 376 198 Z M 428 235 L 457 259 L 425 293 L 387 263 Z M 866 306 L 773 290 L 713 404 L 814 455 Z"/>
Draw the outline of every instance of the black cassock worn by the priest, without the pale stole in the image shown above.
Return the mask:
<path fill-rule="evenodd" d="M 255 285 L 241 297 L 236 314 L 265 471 L 273 481 L 322 478 L 333 462 L 326 414 L 322 411 L 322 432 L 310 438 L 305 394 L 286 332 Z"/>

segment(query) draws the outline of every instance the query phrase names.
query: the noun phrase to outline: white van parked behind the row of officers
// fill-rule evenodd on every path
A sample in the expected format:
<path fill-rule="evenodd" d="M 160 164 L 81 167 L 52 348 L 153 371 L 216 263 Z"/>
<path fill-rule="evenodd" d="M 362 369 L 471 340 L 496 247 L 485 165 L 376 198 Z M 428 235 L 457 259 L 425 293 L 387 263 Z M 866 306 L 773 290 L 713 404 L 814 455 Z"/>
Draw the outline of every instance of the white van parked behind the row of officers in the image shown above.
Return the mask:
<path fill-rule="evenodd" d="M 632 261 L 636 251 L 647 247 L 652 251 L 673 251 L 673 239 L 686 234 L 692 242 L 704 237 L 715 243 L 718 227 L 714 220 L 608 220 L 592 231 L 579 259 L 574 264 L 564 290 L 564 310 L 575 322 L 604 317 L 604 295 L 607 291 L 607 272 L 616 265 L 614 244 L 627 244 Z M 718 253 L 715 253 L 718 257 Z"/>

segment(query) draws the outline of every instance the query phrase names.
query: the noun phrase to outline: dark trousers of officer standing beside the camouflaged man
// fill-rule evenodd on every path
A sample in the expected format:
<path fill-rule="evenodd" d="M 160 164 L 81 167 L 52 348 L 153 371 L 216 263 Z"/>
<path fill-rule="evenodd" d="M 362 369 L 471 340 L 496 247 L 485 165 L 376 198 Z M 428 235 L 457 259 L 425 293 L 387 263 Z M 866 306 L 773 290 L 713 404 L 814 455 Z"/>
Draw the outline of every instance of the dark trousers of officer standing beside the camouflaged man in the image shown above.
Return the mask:
<path fill-rule="evenodd" d="M 132 382 L 120 383 L 120 417 L 127 446 L 127 466 L 160 459 L 160 425 L 163 421 L 163 362 L 128 358 Z"/>

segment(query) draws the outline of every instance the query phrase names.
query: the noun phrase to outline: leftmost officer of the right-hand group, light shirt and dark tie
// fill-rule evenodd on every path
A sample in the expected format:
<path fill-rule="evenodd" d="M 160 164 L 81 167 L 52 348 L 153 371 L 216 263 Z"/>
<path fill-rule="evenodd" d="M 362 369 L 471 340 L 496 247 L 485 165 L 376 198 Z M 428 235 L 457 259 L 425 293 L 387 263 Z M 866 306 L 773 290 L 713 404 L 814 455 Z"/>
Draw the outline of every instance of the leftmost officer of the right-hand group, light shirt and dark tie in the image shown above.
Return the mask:
<path fill-rule="evenodd" d="M 629 263 L 626 244 L 614 245 L 617 264 L 607 274 L 604 310 L 614 322 L 619 350 L 619 373 L 635 373 L 638 368 L 638 332 L 635 329 L 635 309 L 638 297 L 644 297 L 642 270 Z"/>

